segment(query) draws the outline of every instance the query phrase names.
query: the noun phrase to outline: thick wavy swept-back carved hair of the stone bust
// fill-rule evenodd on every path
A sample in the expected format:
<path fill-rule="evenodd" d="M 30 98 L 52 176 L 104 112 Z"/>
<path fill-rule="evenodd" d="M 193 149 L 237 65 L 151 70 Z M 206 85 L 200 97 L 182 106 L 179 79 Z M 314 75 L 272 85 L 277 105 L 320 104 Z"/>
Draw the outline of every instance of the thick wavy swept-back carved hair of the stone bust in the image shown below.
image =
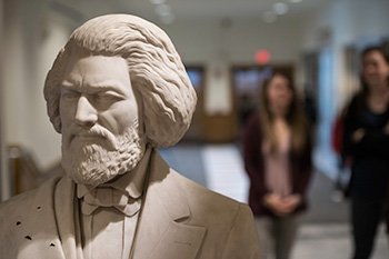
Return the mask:
<path fill-rule="evenodd" d="M 61 132 L 60 86 L 72 54 L 119 56 L 127 60 L 131 84 L 141 96 L 146 136 L 153 147 L 177 143 L 190 126 L 196 92 L 169 37 L 157 26 L 129 14 L 97 17 L 70 36 L 44 83 L 48 114 Z"/>

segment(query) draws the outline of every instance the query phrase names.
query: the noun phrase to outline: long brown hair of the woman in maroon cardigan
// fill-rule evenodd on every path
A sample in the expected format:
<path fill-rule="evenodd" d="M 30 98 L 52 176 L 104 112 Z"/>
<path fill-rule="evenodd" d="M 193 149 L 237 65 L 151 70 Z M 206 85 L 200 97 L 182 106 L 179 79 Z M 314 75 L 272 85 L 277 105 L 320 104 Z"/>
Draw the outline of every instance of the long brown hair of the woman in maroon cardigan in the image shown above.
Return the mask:
<path fill-rule="evenodd" d="M 307 118 L 301 108 L 300 100 L 298 99 L 293 81 L 290 77 L 282 72 L 275 72 L 272 77 L 266 80 L 262 84 L 260 96 L 259 96 L 259 119 L 261 124 L 261 131 L 263 139 L 270 142 L 270 151 L 276 152 L 279 148 L 279 142 L 273 130 L 273 116 L 270 111 L 269 100 L 268 100 L 268 88 L 271 80 L 275 77 L 283 77 L 288 81 L 288 87 L 292 92 L 292 100 L 289 106 L 289 111 L 287 113 L 286 120 L 290 127 L 291 135 L 291 151 L 295 155 L 300 155 L 307 143 Z"/>

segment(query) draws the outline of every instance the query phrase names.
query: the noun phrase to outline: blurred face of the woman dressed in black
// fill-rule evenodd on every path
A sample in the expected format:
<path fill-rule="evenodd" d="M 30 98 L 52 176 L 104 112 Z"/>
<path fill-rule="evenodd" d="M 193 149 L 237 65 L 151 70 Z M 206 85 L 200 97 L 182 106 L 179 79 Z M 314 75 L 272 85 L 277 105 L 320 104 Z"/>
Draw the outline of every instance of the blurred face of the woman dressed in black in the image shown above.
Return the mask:
<path fill-rule="evenodd" d="M 361 72 L 370 90 L 377 86 L 387 86 L 389 63 L 379 51 L 372 50 L 363 56 Z"/>

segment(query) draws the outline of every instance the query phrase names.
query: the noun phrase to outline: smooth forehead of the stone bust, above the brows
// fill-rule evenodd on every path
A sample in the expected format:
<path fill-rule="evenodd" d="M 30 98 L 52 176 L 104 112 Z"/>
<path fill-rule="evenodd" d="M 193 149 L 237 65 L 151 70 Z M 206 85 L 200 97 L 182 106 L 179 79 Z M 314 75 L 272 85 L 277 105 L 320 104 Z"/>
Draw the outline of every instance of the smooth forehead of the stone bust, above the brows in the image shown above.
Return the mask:
<path fill-rule="evenodd" d="M 62 84 L 72 88 L 128 88 L 130 82 L 127 62 L 121 57 L 74 57 L 64 70 Z"/>

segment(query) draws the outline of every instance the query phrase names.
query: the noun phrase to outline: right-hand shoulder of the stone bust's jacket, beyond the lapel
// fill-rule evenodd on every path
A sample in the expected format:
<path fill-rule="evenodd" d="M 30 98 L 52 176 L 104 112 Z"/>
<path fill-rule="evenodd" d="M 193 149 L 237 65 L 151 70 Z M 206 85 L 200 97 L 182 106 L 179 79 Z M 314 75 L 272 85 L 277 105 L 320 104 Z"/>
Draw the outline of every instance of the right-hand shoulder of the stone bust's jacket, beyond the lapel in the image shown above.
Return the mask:
<path fill-rule="evenodd" d="M 183 223 L 207 228 L 201 248 L 206 258 L 259 258 L 257 230 L 247 205 L 208 190 L 174 171 L 171 175 L 180 182 L 191 211 Z"/>

